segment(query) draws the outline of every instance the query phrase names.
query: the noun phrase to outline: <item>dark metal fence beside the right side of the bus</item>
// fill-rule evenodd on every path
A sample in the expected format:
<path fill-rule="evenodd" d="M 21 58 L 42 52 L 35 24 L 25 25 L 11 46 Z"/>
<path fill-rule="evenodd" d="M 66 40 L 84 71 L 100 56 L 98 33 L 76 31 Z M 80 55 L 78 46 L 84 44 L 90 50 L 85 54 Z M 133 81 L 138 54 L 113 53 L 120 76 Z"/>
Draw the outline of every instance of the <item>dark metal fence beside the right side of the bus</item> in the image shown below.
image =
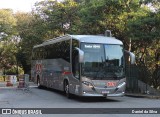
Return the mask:
<path fill-rule="evenodd" d="M 150 73 L 145 67 L 126 66 L 127 93 L 160 95 L 160 92 L 149 85 Z"/>

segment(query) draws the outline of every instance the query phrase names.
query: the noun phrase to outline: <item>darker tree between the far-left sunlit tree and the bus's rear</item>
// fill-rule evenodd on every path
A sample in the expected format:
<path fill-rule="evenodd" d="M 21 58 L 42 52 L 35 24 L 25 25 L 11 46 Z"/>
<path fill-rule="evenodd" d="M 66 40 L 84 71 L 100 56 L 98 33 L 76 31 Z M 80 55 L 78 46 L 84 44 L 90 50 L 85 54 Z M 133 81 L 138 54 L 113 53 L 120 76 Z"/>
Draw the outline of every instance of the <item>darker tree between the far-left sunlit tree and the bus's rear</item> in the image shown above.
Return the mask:
<path fill-rule="evenodd" d="M 43 21 L 30 13 L 16 13 L 17 30 L 20 42 L 17 46 L 17 59 L 21 63 L 24 72 L 29 73 L 31 69 L 31 55 L 34 45 L 42 43 L 45 28 Z"/>

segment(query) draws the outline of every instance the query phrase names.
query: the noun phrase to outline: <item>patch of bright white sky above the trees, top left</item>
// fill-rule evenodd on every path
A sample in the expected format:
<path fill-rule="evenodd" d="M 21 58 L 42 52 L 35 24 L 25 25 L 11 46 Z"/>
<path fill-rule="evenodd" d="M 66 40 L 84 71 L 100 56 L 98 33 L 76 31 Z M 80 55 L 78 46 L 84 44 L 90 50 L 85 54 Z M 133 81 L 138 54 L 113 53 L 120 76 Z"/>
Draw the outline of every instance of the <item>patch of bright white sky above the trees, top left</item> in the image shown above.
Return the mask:
<path fill-rule="evenodd" d="M 43 0 L 0 0 L 0 9 L 10 8 L 14 12 L 30 12 L 37 1 Z"/>

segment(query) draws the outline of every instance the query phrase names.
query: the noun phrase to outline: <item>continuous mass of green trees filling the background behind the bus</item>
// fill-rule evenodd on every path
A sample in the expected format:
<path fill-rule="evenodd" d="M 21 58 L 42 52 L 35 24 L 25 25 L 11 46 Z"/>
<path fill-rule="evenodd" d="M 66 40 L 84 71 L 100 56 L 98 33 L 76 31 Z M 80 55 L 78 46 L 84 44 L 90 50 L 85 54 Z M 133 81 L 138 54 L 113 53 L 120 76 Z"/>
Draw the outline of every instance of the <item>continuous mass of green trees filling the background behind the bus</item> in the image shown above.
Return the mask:
<path fill-rule="evenodd" d="M 32 13 L 13 15 L 2 9 L 0 38 L 6 40 L 0 45 L 0 67 L 12 68 L 18 62 L 28 73 L 34 45 L 66 33 L 96 35 L 109 29 L 125 49 L 134 51 L 137 65 L 150 72 L 148 81 L 157 88 L 159 4 L 158 0 L 45 0 L 37 2 Z"/>

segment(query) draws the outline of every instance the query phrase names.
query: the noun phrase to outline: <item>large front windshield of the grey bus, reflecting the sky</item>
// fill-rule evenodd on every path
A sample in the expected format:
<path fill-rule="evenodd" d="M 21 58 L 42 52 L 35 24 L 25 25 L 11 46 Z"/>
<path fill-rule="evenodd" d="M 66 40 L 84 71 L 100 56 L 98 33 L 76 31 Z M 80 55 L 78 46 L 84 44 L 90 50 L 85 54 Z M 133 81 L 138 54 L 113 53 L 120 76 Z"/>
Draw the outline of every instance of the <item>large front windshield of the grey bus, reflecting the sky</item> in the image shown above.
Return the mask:
<path fill-rule="evenodd" d="M 114 80 L 124 77 L 122 45 L 82 43 L 84 63 L 82 76 L 92 80 Z"/>

